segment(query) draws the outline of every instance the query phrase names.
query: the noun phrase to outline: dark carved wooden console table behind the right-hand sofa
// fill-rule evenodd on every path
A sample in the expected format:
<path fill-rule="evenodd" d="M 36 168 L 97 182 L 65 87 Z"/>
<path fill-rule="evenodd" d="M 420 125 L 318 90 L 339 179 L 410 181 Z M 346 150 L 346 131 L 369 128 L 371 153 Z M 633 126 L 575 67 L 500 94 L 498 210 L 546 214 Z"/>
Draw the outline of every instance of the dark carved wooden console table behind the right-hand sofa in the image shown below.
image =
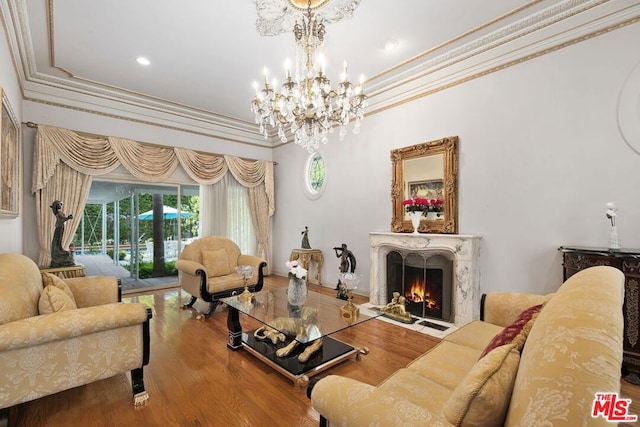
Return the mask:
<path fill-rule="evenodd" d="M 564 280 L 587 267 L 608 265 L 624 273 L 624 344 L 623 375 L 640 385 L 640 249 L 590 248 L 561 246 Z"/>

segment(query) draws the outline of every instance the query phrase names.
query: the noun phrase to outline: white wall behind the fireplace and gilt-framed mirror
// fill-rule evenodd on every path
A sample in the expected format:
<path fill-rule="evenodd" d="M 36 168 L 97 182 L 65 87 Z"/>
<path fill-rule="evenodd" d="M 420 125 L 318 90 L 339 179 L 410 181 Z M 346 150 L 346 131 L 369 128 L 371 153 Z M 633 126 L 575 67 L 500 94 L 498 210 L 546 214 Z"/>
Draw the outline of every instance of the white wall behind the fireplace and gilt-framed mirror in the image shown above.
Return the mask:
<path fill-rule="evenodd" d="M 327 188 L 303 195 L 307 153 L 275 150 L 274 270 L 309 226 L 334 286 L 346 243 L 368 294 L 369 236 L 389 231 L 389 151 L 460 137 L 459 233 L 483 237 L 483 292 L 546 293 L 561 283 L 561 245 L 606 246 L 605 203 L 619 207 L 623 247 L 640 248 L 640 156 L 617 128 L 620 89 L 640 61 L 640 24 L 548 53 L 367 117 L 360 134 L 321 147 Z"/>

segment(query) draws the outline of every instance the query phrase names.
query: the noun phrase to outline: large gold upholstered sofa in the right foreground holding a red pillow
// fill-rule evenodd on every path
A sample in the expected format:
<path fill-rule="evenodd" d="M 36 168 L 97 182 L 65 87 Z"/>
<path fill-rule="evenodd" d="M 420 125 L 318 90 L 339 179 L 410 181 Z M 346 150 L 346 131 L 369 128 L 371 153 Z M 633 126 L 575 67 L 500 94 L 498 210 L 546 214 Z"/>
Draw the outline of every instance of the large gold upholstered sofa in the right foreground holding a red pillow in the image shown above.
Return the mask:
<path fill-rule="evenodd" d="M 592 417 L 592 407 L 596 393 L 620 391 L 623 284 L 619 270 L 592 267 L 550 295 L 486 294 L 483 320 L 451 333 L 378 386 L 320 379 L 309 390 L 320 424 L 611 425 L 602 414 Z M 540 304 L 510 343 L 500 342 L 520 313 Z M 489 343 L 498 346 L 480 358 Z"/>

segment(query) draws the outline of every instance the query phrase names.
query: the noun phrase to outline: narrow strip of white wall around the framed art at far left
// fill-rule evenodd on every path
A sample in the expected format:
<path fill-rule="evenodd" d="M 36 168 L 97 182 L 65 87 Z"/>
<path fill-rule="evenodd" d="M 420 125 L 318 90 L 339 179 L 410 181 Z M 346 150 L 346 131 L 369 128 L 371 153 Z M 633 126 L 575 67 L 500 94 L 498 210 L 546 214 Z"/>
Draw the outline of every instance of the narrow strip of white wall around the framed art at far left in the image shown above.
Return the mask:
<path fill-rule="evenodd" d="M 0 23 L 1 27 L 1 23 Z M 2 30 L 2 28 L 0 28 Z M 11 109 L 16 115 L 18 122 L 22 121 L 22 96 L 16 70 L 13 66 L 13 59 L 9 50 L 6 33 L 0 31 L 0 87 L 6 93 Z M 23 156 L 26 155 L 23 151 Z M 24 215 L 21 213 L 17 218 L 0 217 L 0 253 L 18 252 L 22 253 L 22 224 Z"/>

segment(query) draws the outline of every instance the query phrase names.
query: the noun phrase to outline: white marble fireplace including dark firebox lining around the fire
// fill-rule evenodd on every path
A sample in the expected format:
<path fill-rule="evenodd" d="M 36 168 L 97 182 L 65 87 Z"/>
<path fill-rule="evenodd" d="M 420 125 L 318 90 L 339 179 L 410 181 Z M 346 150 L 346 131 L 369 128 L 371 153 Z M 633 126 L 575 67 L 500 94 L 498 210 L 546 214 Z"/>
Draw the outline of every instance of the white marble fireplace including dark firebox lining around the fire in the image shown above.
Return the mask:
<path fill-rule="evenodd" d="M 427 271 L 433 271 L 436 281 L 442 287 L 439 291 L 439 303 L 444 302 L 445 312 L 440 312 L 435 318 L 458 327 L 479 318 L 481 299 L 478 265 L 479 236 L 384 232 L 373 232 L 369 235 L 371 241 L 369 302 L 372 305 L 383 306 L 389 302 L 390 292 L 387 287 L 394 286 L 394 283 L 388 282 L 394 282 L 392 279 L 397 276 L 391 271 L 396 268 L 395 264 L 400 263 L 403 266 L 407 264 L 408 270 L 415 270 L 416 267 L 413 264 L 415 260 L 424 259 L 427 281 L 432 281 Z M 405 262 L 405 260 L 409 261 Z M 438 271 L 444 271 L 444 274 L 438 275 Z"/>

